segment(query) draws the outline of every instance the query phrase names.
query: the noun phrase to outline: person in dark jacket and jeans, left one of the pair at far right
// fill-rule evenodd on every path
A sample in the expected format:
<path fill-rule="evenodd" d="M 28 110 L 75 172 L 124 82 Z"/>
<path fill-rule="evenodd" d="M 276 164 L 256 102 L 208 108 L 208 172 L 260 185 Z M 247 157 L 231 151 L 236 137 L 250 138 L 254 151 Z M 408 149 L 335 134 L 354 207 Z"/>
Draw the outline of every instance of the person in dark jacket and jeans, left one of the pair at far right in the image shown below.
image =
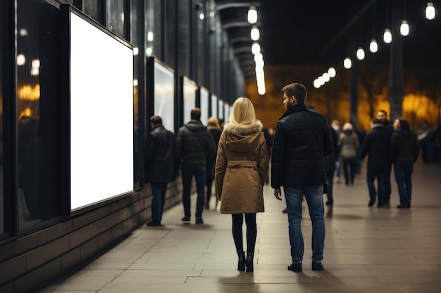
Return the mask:
<path fill-rule="evenodd" d="M 368 207 L 375 204 L 378 195 L 377 207 L 384 207 L 385 204 L 385 171 L 388 164 L 390 152 L 390 135 L 380 119 L 371 120 L 371 131 L 366 134 L 363 145 L 361 145 L 360 157 L 368 156 L 366 164 L 366 183 L 368 184 L 369 203 Z M 375 190 L 375 179 L 377 190 Z"/>

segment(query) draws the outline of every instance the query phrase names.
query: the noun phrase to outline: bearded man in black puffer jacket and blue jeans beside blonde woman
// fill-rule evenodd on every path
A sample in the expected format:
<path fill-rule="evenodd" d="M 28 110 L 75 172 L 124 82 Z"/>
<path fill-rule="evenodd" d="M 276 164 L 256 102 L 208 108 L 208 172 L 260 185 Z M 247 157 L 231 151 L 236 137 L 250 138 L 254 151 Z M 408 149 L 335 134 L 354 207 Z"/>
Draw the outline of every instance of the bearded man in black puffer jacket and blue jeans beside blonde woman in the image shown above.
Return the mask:
<path fill-rule="evenodd" d="M 313 227 L 312 269 L 320 271 L 323 270 L 321 261 L 325 243 L 323 155 L 333 152 L 333 138 L 326 117 L 306 107 L 307 93 L 303 84 L 288 84 L 282 92 L 286 111 L 275 129 L 271 186 L 277 200 L 282 200 L 281 186 L 285 193 L 292 259 L 288 270 L 302 271 L 304 241 L 301 222 L 305 197 Z"/>

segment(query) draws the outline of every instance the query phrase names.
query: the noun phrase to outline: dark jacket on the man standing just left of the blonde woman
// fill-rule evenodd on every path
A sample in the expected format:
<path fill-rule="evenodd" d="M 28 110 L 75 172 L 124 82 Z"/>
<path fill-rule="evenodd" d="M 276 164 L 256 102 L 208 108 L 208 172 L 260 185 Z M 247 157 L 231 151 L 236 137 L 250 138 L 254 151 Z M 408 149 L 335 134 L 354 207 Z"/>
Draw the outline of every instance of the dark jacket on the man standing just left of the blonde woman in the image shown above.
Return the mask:
<path fill-rule="evenodd" d="M 178 131 L 176 159 L 185 166 L 206 166 L 216 156 L 216 146 L 209 130 L 199 120 L 190 120 Z"/>

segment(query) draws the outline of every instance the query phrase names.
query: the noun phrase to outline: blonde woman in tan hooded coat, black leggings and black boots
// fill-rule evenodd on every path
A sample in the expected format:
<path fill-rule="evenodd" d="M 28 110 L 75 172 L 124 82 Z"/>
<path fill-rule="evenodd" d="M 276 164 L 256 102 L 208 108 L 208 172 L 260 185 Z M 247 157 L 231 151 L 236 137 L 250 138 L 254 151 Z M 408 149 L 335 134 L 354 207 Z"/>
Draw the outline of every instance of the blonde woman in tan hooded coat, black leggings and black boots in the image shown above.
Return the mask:
<path fill-rule="evenodd" d="M 237 98 L 225 124 L 216 158 L 215 190 L 221 200 L 221 214 L 232 214 L 232 237 L 239 261 L 238 271 L 254 271 L 256 213 L 265 211 L 263 185 L 268 175 L 268 148 L 248 98 Z M 243 247 L 242 223 L 247 225 L 247 259 Z"/>

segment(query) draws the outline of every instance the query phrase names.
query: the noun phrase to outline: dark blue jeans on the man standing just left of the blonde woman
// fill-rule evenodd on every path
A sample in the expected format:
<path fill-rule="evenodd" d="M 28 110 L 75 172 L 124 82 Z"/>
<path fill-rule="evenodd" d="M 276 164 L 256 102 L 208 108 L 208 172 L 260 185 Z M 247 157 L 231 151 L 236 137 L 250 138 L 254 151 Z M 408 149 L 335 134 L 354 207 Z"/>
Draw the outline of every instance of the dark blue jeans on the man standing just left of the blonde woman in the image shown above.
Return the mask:
<path fill-rule="evenodd" d="M 190 193 L 192 191 L 192 178 L 196 181 L 196 217 L 202 217 L 202 211 L 204 211 L 205 203 L 205 165 L 199 166 L 182 166 L 182 204 L 184 205 L 184 215 L 191 216 L 192 202 L 190 200 Z"/>

